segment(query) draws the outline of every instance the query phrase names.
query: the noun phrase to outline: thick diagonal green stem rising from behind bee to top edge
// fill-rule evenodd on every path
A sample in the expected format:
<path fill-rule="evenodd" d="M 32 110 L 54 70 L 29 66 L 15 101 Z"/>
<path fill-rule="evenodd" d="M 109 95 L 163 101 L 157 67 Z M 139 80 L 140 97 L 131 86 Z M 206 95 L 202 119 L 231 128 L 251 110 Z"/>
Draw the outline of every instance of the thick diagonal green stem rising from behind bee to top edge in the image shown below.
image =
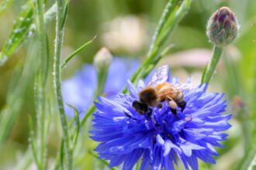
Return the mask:
<path fill-rule="evenodd" d="M 159 55 L 164 42 L 168 37 L 174 32 L 175 27 L 182 20 L 185 14 L 189 11 L 192 0 L 183 0 L 182 3 L 178 3 L 177 0 L 169 0 L 168 4 L 164 8 L 164 12 L 161 15 L 161 19 L 158 23 L 157 29 L 153 36 L 153 42 L 150 45 L 150 49 L 147 53 L 147 58 L 140 65 L 140 67 L 133 73 L 130 80 L 133 83 L 137 83 L 138 80 L 144 78 L 146 72 L 149 73 L 148 66 L 151 70 L 157 65 L 158 61 L 161 59 L 162 55 Z M 123 90 L 126 93 L 127 89 Z"/>

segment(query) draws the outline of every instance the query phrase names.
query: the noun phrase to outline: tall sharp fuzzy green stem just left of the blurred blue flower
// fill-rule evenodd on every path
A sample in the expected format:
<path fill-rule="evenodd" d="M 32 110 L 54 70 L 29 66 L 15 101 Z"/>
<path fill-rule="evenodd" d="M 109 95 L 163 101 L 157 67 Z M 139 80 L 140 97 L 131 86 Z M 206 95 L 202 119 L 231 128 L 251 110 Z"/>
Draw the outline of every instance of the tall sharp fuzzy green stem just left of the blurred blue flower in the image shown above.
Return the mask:
<path fill-rule="evenodd" d="M 68 132 L 67 117 L 64 111 L 64 103 L 61 93 L 61 49 L 64 38 L 64 26 L 67 18 L 67 5 L 65 1 L 57 0 L 57 17 L 56 17 L 56 38 L 54 51 L 54 90 L 57 100 L 57 107 L 61 117 L 61 126 L 65 141 L 65 152 L 67 153 L 67 168 L 72 169 L 73 156 L 71 150 L 70 134 Z"/>

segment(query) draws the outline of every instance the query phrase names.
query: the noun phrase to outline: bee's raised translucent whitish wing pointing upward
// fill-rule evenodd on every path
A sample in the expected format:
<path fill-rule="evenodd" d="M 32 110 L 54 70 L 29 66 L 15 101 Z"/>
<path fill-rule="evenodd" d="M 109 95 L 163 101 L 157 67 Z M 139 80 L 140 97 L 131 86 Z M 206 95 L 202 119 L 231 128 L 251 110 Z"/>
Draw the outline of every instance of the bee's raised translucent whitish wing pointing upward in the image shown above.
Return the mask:
<path fill-rule="evenodd" d="M 169 78 L 168 65 L 161 66 L 161 67 L 157 68 L 157 70 L 154 72 L 149 83 L 147 83 L 147 86 L 154 87 L 159 83 L 167 82 L 168 78 Z"/>

